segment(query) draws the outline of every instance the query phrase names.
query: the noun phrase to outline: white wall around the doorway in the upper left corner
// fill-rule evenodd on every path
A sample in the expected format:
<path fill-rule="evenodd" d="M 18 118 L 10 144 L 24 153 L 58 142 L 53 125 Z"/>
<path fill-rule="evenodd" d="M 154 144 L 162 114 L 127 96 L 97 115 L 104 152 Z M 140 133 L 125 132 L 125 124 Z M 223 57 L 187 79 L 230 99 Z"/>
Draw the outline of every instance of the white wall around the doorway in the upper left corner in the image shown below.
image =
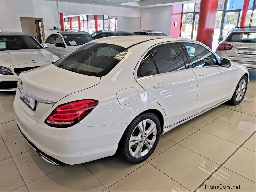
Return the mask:
<path fill-rule="evenodd" d="M 0 0 L 0 28 L 2 31 L 22 32 L 20 17 L 43 18 L 44 34 L 60 26 L 57 3 L 41 0 Z"/>

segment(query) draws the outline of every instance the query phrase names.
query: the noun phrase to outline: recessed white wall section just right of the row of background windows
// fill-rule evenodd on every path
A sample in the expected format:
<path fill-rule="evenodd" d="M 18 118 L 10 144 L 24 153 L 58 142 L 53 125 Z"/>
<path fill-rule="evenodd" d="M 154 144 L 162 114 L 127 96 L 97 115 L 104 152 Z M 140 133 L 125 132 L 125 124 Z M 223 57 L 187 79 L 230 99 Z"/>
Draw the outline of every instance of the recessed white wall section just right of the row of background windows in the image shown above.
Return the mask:
<path fill-rule="evenodd" d="M 117 16 L 118 31 L 136 32 L 140 31 L 140 17 Z"/>

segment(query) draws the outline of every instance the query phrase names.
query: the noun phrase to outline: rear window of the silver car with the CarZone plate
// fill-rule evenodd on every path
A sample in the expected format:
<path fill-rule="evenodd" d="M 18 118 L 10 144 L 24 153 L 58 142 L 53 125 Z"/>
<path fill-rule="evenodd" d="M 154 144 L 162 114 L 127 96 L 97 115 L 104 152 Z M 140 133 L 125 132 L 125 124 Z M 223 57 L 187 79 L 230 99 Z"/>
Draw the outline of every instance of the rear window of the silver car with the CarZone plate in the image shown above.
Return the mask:
<path fill-rule="evenodd" d="M 226 41 L 256 43 L 256 32 L 231 33 Z"/>

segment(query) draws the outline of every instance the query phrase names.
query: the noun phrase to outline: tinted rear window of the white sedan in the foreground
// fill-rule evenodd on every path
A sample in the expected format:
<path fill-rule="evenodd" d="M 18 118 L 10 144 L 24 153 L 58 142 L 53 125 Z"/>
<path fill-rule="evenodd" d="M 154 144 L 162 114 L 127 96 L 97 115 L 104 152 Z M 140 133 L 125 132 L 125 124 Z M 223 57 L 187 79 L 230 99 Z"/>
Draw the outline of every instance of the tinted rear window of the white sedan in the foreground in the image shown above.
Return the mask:
<path fill-rule="evenodd" d="M 106 43 L 88 43 L 56 61 L 57 67 L 89 76 L 102 77 L 126 55 L 124 47 Z"/>

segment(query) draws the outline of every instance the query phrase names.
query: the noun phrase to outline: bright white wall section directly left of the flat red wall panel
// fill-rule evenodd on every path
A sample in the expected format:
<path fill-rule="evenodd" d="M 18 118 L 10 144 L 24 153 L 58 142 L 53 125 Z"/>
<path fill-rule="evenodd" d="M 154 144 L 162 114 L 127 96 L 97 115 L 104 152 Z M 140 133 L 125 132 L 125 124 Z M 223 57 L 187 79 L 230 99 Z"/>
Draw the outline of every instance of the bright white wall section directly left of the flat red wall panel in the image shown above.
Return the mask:
<path fill-rule="evenodd" d="M 172 6 L 141 10 L 141 30 L 156 30 L 170 35 Z"/>

